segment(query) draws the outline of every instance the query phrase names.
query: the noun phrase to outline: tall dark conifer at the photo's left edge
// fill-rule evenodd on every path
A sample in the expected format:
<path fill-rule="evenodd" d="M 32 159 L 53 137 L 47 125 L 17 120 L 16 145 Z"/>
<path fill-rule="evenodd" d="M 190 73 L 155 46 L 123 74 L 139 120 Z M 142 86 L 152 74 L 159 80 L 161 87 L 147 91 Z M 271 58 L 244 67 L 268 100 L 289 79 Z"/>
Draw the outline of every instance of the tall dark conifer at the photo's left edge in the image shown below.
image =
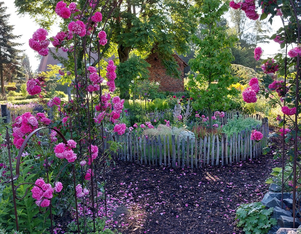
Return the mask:
<path fill-rule="evenodd" d="M 10 14 L 6 14 L 7 7 L 0 2 L 0 83 L 1 94 L 4 95 L 4 77 L 9 82 L 22 75 L 20 67 L 20 50 L 15 47 L 22 44 L 13 42 L 20 36 L 14 35 L 14 26 L 8 24 Z"/>

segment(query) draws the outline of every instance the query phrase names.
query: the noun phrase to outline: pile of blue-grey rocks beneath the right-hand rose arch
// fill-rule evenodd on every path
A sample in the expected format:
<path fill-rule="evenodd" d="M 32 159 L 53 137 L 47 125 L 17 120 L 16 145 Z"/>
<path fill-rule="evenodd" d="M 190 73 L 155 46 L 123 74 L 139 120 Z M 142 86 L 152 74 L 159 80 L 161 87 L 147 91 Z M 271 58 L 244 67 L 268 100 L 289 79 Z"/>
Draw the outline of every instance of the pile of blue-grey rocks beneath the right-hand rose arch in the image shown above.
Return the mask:
<path fill-rule="evenodd" d="M 283 206 L 281 202 L 281 187 L 272 183 L 269 191 L 262 199 L 262 204 L 267 208 L 274 208 L 272 218 L 277 220 L 277 225 L 273 226 L 268 234 L 297 234 L 297 228 L 293 228 L 293 194 L 283 193 Z M 301 230 L 301 216 L 296 211 L 295 227 Z"/>

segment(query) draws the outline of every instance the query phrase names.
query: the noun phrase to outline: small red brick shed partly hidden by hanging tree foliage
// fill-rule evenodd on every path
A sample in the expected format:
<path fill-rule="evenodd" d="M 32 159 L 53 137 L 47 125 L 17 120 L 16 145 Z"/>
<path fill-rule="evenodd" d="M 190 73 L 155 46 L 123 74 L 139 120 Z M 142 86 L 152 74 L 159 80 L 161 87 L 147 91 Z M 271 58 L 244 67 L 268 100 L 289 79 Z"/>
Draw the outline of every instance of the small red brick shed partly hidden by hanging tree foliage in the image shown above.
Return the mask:
<path fill-rule="evenodd" d="M 154 82 L 159 82 L 161 91 L 184 91 L 184 63 L 176 55 L 174 55 L 174 57 L 176 61 L 178 61 L 179 70 L 181 71 L 180 79 L 174 79 L 166 75 L 166 69 L 161 64 L 161 61 L 158 59 L 157 54 L 151 54 L 146 59 L 147 63 L 151 64 L 151 67 L 148 68 L 148 70 L 150 71 L 149 79 Z"/>

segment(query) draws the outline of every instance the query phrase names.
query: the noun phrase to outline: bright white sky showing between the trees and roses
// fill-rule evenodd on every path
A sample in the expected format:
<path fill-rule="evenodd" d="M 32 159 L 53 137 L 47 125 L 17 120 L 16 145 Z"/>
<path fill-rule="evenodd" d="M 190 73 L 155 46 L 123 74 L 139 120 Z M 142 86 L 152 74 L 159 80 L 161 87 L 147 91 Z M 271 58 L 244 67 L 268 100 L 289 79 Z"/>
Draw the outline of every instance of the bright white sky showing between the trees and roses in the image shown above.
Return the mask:
<path fill-rule="evenodd" d="M 22 46 L 20 46 L 20 49 L 24 50 L 24 52 L 28 55 L 32 70 L 35 72 L 39 67 L 40 56 L 37 57 L 38 54 L 29 47 L 28 40 L 32 37 L 33 33 L 39 28 L 39 26 L 34 22 L 33 19 L 29 17 L 29 15 L 17 15 L 17 8 L 15 7 L 13 0 L 4 0 L 4 4 L 8 8 L 6 12 L 11 14 L 9 23 L 14 25 L 13 33 L 15 35 L 21 35 L 17 42 L 24 43 Z M 274 17 L 273 26 L 275 28 L 272 29 L 270 34 L 274 34 L 280 25 L 282 25 L 280 17 Z M 59 32 L 59 27 L 53 26 L 52 30 L 49 32 L 49 36 L 56 35 L 57 32 Z M 271 41 L 269 44 L 259 44 L 258 46 L 261 46 L 263 49 L 263 58 L 267 58 L 268 56 L 271 57 L 271 55 L 277 54 L 277 51 L 280 49 L 279 44 L 273 41 Z"/>

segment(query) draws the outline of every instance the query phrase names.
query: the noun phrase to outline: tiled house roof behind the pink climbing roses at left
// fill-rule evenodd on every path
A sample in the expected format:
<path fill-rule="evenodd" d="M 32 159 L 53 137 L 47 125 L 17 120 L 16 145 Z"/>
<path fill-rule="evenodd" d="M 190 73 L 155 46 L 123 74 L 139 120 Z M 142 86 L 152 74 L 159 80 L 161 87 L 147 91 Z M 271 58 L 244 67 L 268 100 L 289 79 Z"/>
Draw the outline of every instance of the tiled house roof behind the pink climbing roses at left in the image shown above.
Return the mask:
<path fill-rule="evenodd" d="M 68 59 L 68 54 L 64 51 L 62 51 L 61 48 L 58 49 L 58 51 L 55 51 L 56 48 L 51 47 L 49 48 L 49 50 L 51 50 L 54 54 L 57 55 L 57 57 L 63 57 L 64 59 Z M 97 60 L 98 56 L 97 54 L 91 53 L 91 57 L 92 57 L 92 61 Z M 112 59 L 112 58 L 110 58 Z M 109 59 L 104 59 L 106 61 L 108 61 Z M 40 65 L 38 68 L 38 72 L 46 72 L 49 71 L 48 66 L 47 65 L 61 65 L 62 67 L 63 64 L 57 60 L 56 58 L 53 57 L 53 55 L 51 53 L 49 53 L 47 56 L 41 56 L 41 61 L 40 61 Z"/>

